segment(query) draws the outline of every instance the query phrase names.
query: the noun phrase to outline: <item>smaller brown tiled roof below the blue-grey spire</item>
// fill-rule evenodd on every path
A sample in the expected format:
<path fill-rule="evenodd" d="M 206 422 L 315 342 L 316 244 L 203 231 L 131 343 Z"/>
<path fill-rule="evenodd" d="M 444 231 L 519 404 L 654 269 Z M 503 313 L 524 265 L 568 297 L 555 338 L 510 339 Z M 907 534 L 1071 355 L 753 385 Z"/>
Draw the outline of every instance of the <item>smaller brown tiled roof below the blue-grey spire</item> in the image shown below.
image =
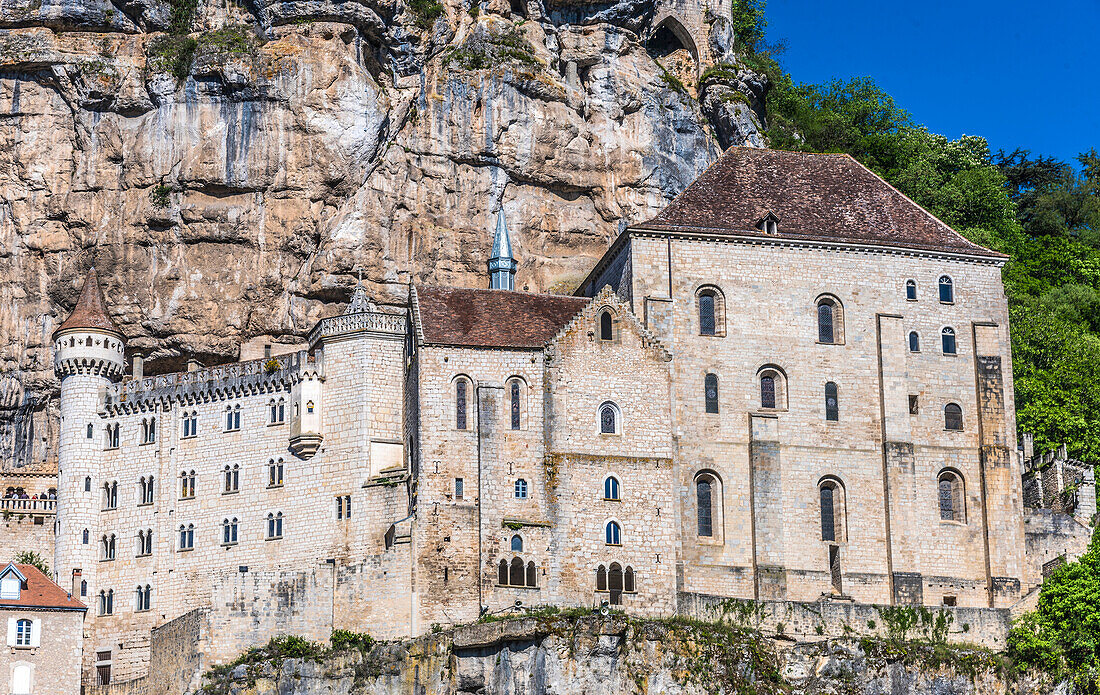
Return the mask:
<path fill-rule="evenodd" d="M 425 344 L 542 348 L 588 299 L 503 289 L 417 287 Z"/>

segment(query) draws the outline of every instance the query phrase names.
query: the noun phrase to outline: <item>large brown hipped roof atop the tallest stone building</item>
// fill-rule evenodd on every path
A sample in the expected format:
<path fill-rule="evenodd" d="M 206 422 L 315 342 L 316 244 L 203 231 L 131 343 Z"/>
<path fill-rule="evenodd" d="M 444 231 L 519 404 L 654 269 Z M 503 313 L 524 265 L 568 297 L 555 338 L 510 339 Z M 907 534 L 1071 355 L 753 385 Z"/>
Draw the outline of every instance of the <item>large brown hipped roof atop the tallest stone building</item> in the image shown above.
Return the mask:
<path fill-rule="evenodd" d="M 730 147 L 648 222 L 680 233 L 776 236 L 1007 257 L 964 239 L 846 154 Z"/>

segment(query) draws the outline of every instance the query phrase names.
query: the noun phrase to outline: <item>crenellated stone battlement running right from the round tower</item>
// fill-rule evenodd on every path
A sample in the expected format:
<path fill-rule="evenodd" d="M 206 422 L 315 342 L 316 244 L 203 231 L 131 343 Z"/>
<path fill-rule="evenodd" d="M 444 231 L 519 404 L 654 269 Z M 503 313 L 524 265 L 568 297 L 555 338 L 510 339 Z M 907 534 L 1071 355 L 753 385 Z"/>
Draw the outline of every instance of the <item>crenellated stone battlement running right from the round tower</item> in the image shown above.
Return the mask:
<path fill-rule="evenodd" d="M 308 376 L 323 379 L 323 355 L 315 356 L 302 351 L 112 384 L 105 389 L 103 409 L 108 415 L 118 415 L 157 402 L 227 400 L 285 390 Z"/>

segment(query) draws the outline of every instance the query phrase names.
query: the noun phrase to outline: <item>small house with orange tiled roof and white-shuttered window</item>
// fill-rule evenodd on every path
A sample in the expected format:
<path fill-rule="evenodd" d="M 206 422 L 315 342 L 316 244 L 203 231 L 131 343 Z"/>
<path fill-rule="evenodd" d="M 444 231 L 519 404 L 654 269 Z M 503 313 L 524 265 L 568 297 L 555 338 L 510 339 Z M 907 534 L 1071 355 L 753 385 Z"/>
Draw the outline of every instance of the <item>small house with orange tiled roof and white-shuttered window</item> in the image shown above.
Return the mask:
<path fill-rule="evenodd" d="M 0 570 L 0 625 L 7 630 L 0 688 L 11 695 L 80 691 L 84 604 L 34 565 Z"/>

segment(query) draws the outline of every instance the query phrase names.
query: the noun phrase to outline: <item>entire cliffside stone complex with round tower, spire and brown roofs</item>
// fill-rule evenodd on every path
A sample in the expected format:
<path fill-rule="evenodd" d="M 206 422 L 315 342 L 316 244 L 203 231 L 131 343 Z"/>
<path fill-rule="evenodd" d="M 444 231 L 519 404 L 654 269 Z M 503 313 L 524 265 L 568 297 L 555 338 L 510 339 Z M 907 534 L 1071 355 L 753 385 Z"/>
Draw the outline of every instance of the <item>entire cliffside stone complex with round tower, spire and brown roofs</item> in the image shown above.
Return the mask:
<path fill-rule="evenodd" d="M 199 609 L 217 661 L 517 606 L 1011 606 L 1005 261 L 849 156 L 734 147 L 574 296 L 514 290 L 502 214 L 487 288 L 359 287 L 248 362 L 146 376 L 92 271 L 54 333 L 85 682 Z"/>

